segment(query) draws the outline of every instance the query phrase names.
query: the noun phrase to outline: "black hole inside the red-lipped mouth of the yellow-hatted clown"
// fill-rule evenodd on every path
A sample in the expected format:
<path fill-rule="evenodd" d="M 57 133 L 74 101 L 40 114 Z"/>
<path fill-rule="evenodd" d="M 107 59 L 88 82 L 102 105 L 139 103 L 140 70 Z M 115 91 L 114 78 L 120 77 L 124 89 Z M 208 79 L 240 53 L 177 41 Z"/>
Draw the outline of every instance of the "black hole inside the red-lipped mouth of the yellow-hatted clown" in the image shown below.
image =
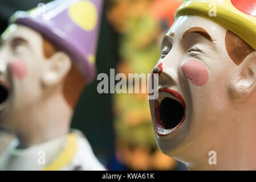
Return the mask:
<path fill-rule="evenodd" d="M 162 100 L 159 112 L 165 129 L 176 127 L 184 116 L 184 108 L 180 102 L 168 97 Z"/>

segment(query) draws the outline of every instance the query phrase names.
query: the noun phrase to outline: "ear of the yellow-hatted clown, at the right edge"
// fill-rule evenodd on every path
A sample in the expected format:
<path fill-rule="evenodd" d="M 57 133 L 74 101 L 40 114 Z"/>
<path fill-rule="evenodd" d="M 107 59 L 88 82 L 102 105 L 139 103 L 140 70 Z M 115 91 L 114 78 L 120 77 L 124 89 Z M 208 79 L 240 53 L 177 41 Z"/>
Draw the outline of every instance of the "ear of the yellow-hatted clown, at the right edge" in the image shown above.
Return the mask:
<path fill-rule="evenodd" d="M 251 52 L 237 66 L 229 88 L 232 101 L 242 104 L 256 97 L 256 51 Z"/>

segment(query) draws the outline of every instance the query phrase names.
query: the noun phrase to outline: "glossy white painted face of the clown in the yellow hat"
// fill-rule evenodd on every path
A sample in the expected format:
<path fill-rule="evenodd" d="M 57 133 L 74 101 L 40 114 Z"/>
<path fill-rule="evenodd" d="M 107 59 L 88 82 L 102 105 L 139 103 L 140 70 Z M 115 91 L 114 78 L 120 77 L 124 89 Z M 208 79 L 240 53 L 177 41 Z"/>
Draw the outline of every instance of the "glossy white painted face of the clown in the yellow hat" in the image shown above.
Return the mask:
<path fill-rule="evenodd" d="M 188 167 L 210 168 L 210 151 L 231 167 L 238 152 L 255 146 L 255 52 L 235 64 L 226 32 L 199 16 L 179 17 L 153 69 L 160 85 L 159 98 L 149 101 L 157 144 Z"/>

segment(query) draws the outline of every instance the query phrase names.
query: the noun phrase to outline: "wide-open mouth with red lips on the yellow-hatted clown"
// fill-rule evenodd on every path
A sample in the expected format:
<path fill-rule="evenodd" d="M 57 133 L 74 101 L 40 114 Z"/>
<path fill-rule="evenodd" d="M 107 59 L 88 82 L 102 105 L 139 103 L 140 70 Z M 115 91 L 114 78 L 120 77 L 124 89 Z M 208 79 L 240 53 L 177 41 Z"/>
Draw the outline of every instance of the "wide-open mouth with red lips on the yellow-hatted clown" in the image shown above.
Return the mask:
<path fill-rule="evenodd" d="M 159 89 L 155 100 L 155 128 L 157 135 L 173 133 L 185 119 L 186 105 L 181 95 L 168 88 Z"/>

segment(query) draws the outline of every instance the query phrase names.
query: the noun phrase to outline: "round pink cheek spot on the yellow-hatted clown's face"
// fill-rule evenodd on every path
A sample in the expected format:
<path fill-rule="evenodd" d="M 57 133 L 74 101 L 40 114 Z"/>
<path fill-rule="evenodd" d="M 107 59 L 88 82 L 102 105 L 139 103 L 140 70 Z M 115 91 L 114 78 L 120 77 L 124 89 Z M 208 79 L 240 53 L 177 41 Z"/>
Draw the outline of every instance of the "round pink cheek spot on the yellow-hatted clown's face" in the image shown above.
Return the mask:
<path fill-rule="evenodd" d="M 205 85 L 209 78 L 205 65 L 196 60 L 188 60 L 182 65 L 183 74 L 197 86 Z"/>

